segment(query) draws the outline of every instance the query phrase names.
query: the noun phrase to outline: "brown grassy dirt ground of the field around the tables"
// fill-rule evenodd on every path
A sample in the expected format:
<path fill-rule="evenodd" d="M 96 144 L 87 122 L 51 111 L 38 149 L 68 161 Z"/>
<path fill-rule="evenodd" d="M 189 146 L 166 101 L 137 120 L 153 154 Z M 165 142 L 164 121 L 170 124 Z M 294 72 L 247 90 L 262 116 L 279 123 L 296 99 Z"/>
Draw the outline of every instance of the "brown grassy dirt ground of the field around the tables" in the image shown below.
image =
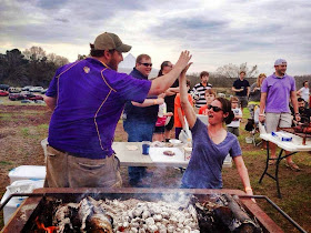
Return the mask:
<path fill-rule="evenodd" d="M 19 165 L 44 165 L 43 151 L 40 141 L 48 135 L 48 124 L 51 111 L 44 105 L 0 105 L 0 196 L 9 185 L 8 173 Z M 283 199 L 277 197 L 275 184 L 265 178 L 262 184 L 258 180 L 264 169 L 265 151 L 261 146 L 244 143 L 245 133 L 240 136 L 241 148 L 247 168 L 250 173 L 252 188 L 255 194 L 267 195 L 282 210 L 294 219 L 302 227 L 311 232 L 311 156 L 308 153 L 295 155 L 295 162 L 303 169 L 292 172 L 283 164 L 280 168 L 281 191 Z M 122 123 L 116 131 L 116 141 L 127 141 Z M 153 178 L 146 180 L 151 188 L 179 188 L 182 173 L 174 168 L 148 168 L 153 171 Z M 123 186 L 129 186 L 127 168 L 121 168 Z M 223 169 L 223 184 L 225 189 L 243 186 L 234 165 Z M 262 207 L 274 222 L 285 232 L 294 231 L 291 224 L 275 212 L 269 204 L 259 201 Z M 0 229 L 3 226 L 0 214 Z"/>

